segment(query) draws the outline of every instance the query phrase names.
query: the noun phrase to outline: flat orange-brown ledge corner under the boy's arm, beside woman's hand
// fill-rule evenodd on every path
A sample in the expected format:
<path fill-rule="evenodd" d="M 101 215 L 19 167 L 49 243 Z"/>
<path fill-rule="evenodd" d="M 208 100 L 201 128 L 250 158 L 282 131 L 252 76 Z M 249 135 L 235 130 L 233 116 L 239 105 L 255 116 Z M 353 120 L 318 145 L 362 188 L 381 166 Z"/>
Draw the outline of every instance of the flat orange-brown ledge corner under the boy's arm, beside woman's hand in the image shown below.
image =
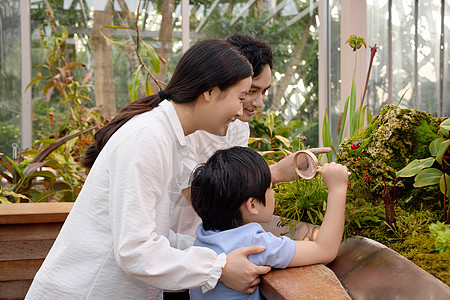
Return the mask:
<path fill-rule="evenodd" d="M 351 299 L 333 271 L 324 265 L 272 270 L 261 278 L 269 299 Z"/>

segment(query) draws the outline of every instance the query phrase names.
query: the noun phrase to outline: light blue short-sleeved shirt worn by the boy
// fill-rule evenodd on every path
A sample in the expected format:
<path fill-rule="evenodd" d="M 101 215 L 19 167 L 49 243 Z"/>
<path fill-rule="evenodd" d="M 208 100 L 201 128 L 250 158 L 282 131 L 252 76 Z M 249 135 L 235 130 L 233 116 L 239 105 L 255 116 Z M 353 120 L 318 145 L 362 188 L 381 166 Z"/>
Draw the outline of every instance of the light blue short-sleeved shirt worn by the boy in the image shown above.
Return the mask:
<path fill-rule="evenodd" d="M 284 269 L 292 261 L 295 253 L 295 242 L 287 237 L 276 237 L 265 232 L 258 223 L 249 223 L 225 231 L 212 231 L 203 229 L 202 224 L 197 228 L 197 239 L 194 246 L 208 247 L 217 254 L 228 254 L 231 251 L 251 245 L 264 245 L 266 249 L 258 254 L 252 254 L 248 260 L 258 266 L 271 266 Z M 253 294 L 244 294 L 228 288 L 218 282 L 213 290 L 202 294 L 201 288 L 189 291 L 192 300 L 234 300 L 234 299 L 261 299 L 259 287 Z"/>

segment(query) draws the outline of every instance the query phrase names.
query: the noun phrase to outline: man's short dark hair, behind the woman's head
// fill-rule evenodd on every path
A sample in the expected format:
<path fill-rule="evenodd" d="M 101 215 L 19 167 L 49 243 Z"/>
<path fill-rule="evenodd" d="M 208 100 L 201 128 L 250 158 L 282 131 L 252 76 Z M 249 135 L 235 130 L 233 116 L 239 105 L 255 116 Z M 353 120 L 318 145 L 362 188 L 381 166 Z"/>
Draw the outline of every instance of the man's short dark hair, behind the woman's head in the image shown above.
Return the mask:
<path fill-rule="evenodd" d="M 270 69 L 273 68 L 272 49 L 260 39 L 235 33 L 227 38 L 227 42 L 239 50 L 251 63 L 253 77 L 259 76 L 265 65 L 269 65 Z"/>

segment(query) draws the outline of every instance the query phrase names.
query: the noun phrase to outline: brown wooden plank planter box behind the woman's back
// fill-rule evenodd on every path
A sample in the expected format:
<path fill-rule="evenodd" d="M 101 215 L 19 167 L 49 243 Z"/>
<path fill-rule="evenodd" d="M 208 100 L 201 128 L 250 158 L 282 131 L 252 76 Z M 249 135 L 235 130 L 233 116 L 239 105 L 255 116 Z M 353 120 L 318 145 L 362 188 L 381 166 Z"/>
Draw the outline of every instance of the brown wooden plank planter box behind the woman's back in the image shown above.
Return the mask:
<path fill-rule="evenodd" d="M 72 202 L 0 205 L 0 299 L 23 299 Z"/>

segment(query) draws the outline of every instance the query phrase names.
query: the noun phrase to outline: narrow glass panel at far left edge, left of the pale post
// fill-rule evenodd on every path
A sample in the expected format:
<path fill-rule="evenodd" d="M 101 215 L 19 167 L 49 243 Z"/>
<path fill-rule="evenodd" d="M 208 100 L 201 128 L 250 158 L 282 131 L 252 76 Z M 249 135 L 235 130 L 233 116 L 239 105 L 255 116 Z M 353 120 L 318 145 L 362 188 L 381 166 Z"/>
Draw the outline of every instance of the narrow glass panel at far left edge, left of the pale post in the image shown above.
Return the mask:
<path fill-rule="evenodd" d="M 0 6 L 0 153 L 12 158 L 12 144 L 20 146 L 21 54 L 20 1 Z"/>

